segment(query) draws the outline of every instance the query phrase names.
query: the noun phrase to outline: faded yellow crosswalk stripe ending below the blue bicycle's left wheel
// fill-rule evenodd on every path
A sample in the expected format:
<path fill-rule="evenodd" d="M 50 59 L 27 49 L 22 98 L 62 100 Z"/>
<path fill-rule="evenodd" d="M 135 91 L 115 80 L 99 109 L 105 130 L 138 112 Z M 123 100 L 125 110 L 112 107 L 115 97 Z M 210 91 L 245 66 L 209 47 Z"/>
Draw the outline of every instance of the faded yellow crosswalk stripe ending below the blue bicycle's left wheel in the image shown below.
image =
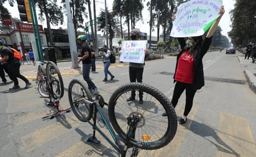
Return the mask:
<path fill-rule="evenodd" d="M 47 143 L 47 141 L 57 138 L 65 132 L 68 132 L 70 128 L 78 127 L 81 124 L 79 120 L 74 116 L 57 117 L 62 119 L 62 123 L 56 122 L 47 127 L 39 128 L 29 135 L 21 137 L 22 144 L 24 145 L 27 152 L 34 151 L 37 147 Z M 64 124 L 65 123 L 65 124 Z"/>

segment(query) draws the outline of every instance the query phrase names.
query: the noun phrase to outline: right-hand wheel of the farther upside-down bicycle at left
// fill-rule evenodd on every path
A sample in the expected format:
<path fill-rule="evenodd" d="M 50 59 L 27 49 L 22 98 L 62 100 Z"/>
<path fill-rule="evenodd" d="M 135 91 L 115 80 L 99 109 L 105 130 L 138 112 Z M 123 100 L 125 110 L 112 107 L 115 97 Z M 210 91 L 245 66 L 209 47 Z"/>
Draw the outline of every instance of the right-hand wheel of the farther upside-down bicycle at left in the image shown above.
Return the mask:
<path fill-rule="evenodd" d="M 60 99 L 64 94 L 64 84 L 62 74 L 53 61 L 48 61 L 46 66 L 46 74 L 49 83 L 52 83 L 52 90 L 55 99 Z"/>

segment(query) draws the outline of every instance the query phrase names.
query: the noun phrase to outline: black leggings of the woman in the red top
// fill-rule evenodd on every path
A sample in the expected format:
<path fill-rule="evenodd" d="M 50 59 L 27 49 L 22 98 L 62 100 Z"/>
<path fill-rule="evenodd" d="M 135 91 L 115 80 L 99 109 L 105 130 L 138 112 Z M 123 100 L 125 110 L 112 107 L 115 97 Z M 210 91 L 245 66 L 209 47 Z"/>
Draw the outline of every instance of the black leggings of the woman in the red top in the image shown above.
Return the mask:
<path fill-rule="evenodd" d="M 179 81 L 176 82 L 173 97 L 171 99 L 171 104 L 175 107 L 178 104 L 178 100 L 180 99 L 181 94 L 186 89 L 186 104 L 183 115 L 187 116 L 190 113 L 193 105 L 194 94 L 196 94 L 196 89 L 194 89 L 191 84 L 181 83 Z"/>

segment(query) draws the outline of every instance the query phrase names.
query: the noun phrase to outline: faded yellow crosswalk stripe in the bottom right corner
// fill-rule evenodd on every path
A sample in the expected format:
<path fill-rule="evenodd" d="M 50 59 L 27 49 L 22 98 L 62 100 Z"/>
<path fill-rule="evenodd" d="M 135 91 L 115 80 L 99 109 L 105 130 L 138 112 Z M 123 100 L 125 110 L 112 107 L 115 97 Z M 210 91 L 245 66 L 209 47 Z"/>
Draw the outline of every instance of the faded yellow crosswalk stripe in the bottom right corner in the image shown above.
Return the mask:
<path fill-rule="evenodd" d="M 217 157 L 256 156 L 255 142 L 247 119 L 221 113 Z"/>

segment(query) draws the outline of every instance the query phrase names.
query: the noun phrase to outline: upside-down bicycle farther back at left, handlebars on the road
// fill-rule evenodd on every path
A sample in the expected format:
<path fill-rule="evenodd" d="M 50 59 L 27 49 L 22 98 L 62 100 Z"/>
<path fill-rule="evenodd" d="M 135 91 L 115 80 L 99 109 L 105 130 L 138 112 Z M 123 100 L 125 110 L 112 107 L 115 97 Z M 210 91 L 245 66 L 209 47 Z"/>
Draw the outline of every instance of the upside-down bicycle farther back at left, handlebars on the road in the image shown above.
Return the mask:
<path fill-rule="evenodd" d="M 46 64 L 46 67 L 44 68 Z M 55 112 L 42 119 L 53 119 L 59 114 L 70 112 L 71 108 L 63 109 L 60 105 L 60 99 L 64 94 L 64 84 L 62 74 L 53 61 L 41 61 L 37 73 L 37 90 L 42 97 L 47 97 L 50 102 L 47 105 L 53 105 Z"/>

